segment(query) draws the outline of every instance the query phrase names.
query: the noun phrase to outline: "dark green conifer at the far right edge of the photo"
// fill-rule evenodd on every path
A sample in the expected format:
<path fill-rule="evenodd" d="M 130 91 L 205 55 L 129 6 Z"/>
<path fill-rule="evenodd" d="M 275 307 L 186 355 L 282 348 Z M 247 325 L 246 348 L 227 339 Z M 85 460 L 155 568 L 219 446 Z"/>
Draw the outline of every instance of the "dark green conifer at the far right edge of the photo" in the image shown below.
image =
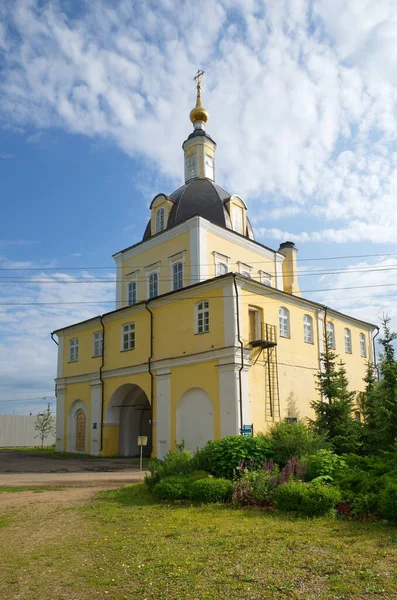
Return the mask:
<path fill-rule="evenodd" d="M 380 354 L 380 381 L 368 389 L 366 410 L 366 449 L 369 452 L 392 450 L 397 441 L 397 362 L 394 340 L 397 334 L 389 327 L 390 317 L 382 319 L 383 346 Z"/>

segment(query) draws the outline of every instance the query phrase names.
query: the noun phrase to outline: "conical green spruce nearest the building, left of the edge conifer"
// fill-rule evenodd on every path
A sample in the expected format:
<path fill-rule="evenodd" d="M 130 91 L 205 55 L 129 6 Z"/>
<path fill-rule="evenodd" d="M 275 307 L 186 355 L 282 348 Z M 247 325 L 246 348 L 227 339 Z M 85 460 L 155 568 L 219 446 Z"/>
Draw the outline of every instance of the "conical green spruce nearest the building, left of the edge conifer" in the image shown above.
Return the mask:
<path fill-rule="evenodd" d="M 315 376 L 321 398 L 311 403 L 316 415 L 311 425 L 316 433 L 327 437 L 337 454 L 358 452 L 362 426 L 353 419 L 355 392 L 349 391 L 345 365 L 328 339 L 321 360 L 322 369 Z"/>

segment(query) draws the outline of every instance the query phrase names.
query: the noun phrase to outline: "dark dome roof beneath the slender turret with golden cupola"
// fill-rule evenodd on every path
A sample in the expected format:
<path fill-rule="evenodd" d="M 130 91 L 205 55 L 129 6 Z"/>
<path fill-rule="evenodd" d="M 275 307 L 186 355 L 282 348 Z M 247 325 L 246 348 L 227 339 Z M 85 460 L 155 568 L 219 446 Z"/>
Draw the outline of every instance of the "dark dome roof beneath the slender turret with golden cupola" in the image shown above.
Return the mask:
<path fill-rule="evenodd" d="M 229 213 L 224 206 L 231 194 L 213 183 L 210 179 L 191 179 L 167 196 L 174 205 L 168 217 L 167 227 L 173 227 L 190 217 L 199 216 L 220 227 L 231 229 Z M 253 239 L 252 227 L 247 219 L 247 236 Z M 146 226 L 143 240 L 151 237 L 150 221 Z"/>

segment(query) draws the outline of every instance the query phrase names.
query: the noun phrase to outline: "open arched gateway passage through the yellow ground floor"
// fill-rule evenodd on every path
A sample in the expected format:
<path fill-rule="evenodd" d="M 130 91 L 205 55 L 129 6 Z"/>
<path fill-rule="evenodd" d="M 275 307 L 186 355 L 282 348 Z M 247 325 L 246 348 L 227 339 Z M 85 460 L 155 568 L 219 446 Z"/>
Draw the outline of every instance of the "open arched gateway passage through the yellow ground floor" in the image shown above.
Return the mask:
<path fill-rule="evenodd" d="M 119 455 L 139 456 L 138 436 L 148 438 L 143 456 L 152 453 L 152 407 L 142 388 L 135 384 L 120 386 L 112 395 L 106 412 L 106 424 L 119 427 Z"/>

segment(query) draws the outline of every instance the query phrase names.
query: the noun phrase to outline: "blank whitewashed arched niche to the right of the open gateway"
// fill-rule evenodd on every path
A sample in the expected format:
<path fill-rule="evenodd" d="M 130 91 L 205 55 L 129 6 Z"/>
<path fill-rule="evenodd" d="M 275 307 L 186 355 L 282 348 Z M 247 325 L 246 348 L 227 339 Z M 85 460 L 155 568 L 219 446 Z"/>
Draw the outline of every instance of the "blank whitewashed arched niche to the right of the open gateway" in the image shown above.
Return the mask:
<path fill-rule="evenodd" d="M 194 452 L 214 439 L 214 407 L 204 390 L 185 392 L 176 409 L 176 441 Z"/>

